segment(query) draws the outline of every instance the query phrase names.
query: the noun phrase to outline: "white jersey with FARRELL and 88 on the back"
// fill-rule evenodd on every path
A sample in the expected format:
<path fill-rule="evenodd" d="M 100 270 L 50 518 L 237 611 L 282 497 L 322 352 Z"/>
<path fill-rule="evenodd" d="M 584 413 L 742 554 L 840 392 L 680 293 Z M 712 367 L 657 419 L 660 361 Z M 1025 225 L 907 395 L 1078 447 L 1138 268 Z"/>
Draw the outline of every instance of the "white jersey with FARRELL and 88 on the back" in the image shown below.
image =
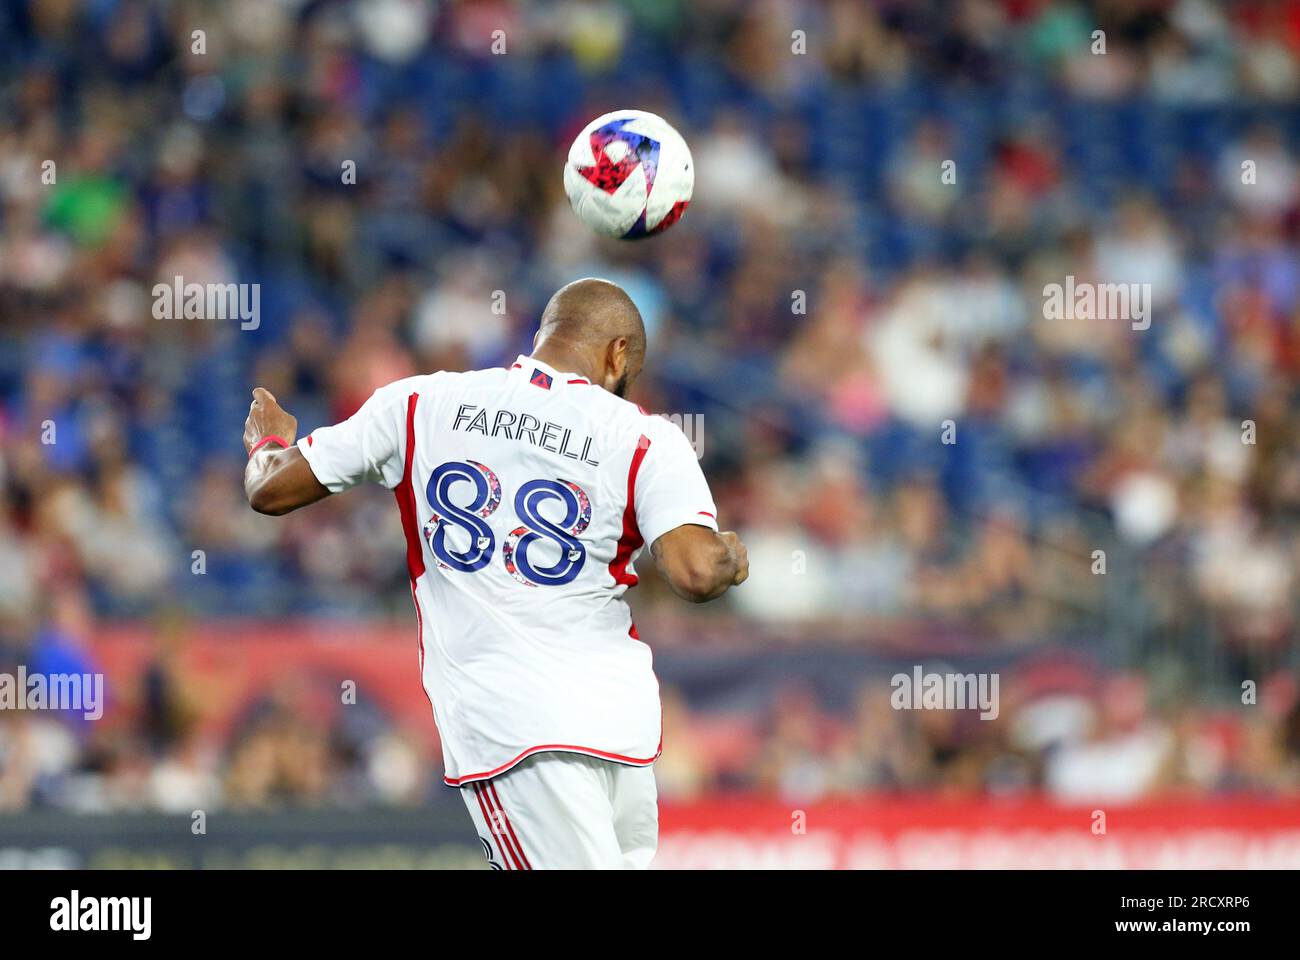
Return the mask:
<path fill-rule="evenodd" d="M 547 751 L 658 758 L 659 684 L 623 594 L 644 544 L 718 529 L 680 428 L 520 356 L 389 384 L 298 447 L 332 493 L 396 496 L 448 784 Z"/>

